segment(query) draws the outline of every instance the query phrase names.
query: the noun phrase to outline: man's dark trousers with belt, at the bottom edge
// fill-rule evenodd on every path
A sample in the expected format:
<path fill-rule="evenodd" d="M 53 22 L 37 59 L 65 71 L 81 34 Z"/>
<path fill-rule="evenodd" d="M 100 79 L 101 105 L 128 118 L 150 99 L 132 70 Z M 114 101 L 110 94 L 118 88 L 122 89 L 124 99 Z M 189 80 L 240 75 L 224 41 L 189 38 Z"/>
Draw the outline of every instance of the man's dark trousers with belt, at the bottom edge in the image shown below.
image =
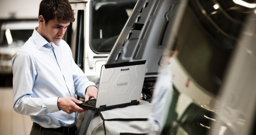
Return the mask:
<path fill-rule="evenodd" d="M 33 126 L 30 131 L 30 135 L 75 135 L 77 128 L 75 130 L 68 129 L 67 127 L 60 127 L 60 128 L 44 128 L 39 124 L 33 123 Z"/>

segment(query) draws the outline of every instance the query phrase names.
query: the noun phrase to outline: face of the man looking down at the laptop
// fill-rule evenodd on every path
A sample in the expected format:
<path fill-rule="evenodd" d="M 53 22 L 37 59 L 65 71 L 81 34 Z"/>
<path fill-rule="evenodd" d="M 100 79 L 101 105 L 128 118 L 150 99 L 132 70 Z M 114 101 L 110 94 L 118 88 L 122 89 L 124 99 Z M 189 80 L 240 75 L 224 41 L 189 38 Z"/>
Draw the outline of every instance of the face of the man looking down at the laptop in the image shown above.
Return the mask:
<path fill-rule="evenodd" d="M 44 21 L 45 22 L 45 21 Z M 58 22 L 57 18 L 49 20 L 42 26 L 42 36 L 50 43 L 59 43 L 64 36 L 70 22 Z"/>

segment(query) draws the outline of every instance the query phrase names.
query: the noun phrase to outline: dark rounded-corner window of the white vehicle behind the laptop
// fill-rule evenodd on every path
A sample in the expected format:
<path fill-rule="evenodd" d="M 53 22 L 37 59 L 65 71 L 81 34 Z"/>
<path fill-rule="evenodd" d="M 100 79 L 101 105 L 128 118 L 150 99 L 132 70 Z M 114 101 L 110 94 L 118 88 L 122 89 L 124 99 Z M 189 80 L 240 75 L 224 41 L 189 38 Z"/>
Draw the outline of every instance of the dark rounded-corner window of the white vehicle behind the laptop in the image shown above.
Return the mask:
<path fill-rule="evenodd" d="M 109 53 L 137 0 L 92 1 L 90 46 L 94 53 Z"/>

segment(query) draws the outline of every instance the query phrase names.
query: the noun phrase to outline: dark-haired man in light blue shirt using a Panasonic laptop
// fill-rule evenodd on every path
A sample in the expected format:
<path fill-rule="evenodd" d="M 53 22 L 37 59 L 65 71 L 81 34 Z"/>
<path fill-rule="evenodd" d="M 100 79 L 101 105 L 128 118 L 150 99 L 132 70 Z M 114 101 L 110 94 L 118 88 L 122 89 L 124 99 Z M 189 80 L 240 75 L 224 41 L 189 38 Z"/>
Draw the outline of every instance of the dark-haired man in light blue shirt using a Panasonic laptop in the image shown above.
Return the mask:
<path fill-rule="evenodd" d="M 39 26 L 12 59 L 13 109 L 31 117 L 31 135 L 75 134 L 77 114 L 85 111 L 75 94 L 85 101 L 97 97 L 61 39 L 74 20 L 68 0 L 42 0 Z"/>

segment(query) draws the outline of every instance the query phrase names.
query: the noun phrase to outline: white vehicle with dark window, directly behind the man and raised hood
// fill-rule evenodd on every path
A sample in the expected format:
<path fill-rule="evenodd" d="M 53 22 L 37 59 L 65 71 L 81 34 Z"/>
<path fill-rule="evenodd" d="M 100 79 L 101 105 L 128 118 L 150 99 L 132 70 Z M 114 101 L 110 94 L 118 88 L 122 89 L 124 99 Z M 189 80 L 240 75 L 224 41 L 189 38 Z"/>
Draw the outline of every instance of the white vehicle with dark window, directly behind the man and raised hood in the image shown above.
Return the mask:
<path fill-rule="evenodd" d="M 69 0 L 75 22 L 64 39 L 70 45 L 76 64 L 92 82 L 131 15 L 137 0 Z"/>

